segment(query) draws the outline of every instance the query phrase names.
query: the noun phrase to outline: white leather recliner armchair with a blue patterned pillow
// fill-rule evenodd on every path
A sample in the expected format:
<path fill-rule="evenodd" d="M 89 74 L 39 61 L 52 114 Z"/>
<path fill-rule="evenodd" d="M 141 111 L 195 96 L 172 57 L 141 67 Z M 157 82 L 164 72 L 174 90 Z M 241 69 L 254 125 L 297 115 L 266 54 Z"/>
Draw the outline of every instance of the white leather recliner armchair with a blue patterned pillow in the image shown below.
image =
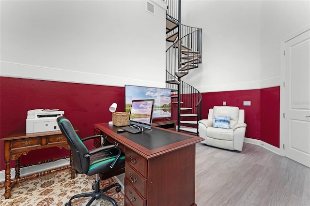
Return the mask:
<path fill-rule="evenodd" d="M 206 145 L 242 151 L 246 127 L 243 109 L 214 106 L 209 109 L 208 119 L 199 121 L 198 131 Z"/>

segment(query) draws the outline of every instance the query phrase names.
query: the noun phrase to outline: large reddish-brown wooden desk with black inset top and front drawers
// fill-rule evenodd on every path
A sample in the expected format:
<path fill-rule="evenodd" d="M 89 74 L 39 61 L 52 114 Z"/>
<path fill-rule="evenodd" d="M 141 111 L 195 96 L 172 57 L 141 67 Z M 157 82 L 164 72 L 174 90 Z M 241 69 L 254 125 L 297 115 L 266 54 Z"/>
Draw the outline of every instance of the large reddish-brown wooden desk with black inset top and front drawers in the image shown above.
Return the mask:
<path fill-rule="evenodd" d="M 125 153 L 125 205 L 195 204 L 195 144 L 203 138 L 154 127 L 117 133 L 116 126 L 94 128 Z"/>

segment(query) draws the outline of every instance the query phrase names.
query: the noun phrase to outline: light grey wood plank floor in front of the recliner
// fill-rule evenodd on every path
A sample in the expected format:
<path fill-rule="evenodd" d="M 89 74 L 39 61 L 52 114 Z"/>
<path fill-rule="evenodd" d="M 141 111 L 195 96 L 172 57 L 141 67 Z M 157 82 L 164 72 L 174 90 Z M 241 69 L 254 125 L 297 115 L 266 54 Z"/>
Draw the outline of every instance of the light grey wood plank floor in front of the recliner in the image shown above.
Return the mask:
<path fill-rule="evenodd" d="M 198 206 L 310 206 L 310 168 L 248 143 L 242 152 L 197 143 L 195 188 Z"/>

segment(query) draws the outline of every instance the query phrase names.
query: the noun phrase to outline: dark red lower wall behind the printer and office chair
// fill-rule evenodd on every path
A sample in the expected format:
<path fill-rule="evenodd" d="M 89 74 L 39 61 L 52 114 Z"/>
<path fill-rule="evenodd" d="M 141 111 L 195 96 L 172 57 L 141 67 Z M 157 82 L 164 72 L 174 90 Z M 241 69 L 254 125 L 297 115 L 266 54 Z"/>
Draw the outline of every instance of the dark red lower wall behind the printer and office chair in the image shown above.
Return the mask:
<path fill-rule="evenodd" d="M 124 88 L 0 77 L 0 137 L 26 130 L 27 111 L 31 109 L 64 110 L 80 137 L 93 135 L 93 124 L 111 121 L 109 106 L 118 104 L 117 112 L 124 111 Z M 93 142 L 88 141 L 93 148 Z M 3 141 L 0 141 L 0 170 L 5 169 Z M 21 165 L 69 155 L 58 147 L 30 151 L 21 156 Z M 11 168 L 14 161 L 11 162 Z"/>

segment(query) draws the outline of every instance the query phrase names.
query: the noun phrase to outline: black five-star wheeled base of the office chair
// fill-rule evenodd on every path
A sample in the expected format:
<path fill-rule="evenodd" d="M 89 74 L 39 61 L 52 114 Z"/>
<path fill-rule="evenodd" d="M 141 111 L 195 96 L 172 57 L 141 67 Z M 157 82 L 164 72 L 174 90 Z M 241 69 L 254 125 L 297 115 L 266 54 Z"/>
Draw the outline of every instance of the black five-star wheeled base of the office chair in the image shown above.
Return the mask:
<path fill-rule="evenodd" d="M 67 202 L 65 204 L 65 206 L 71 206 L 72 200 L 75 199 L 75 198 L 79 198 L 79 197 L 92 197 L 92 199 L 87 203 L 86 206 L 90 206 L 93 203 L 94 200 L 98 200 L 99 198 L 108 200 L 109 202 L 112 203 L 113 206 L 117 206 L 116 201 L 113 198 L 103 194 L 103 192 L 108 191 L 109 189 L 111 189 L 113 187 L 116 187 L 115 188 L 116 192 L 120 192 L 121 191 L 121 185 L 118 184 L 118 183 L 115 183 L 115 184 L 109 185 L 108 187 L 103 188 L 103 189 L 100 190 L 99 182 L 100 181 L 99 181 L 99 178 L 98 178 L 96 180 L 95 184 L 93 185 L 93 190 L 94 190 L 93 192 L 76 194 L 76 195 L 74 195 L 73 197 L 70 198 L 69 202 Z"/>

